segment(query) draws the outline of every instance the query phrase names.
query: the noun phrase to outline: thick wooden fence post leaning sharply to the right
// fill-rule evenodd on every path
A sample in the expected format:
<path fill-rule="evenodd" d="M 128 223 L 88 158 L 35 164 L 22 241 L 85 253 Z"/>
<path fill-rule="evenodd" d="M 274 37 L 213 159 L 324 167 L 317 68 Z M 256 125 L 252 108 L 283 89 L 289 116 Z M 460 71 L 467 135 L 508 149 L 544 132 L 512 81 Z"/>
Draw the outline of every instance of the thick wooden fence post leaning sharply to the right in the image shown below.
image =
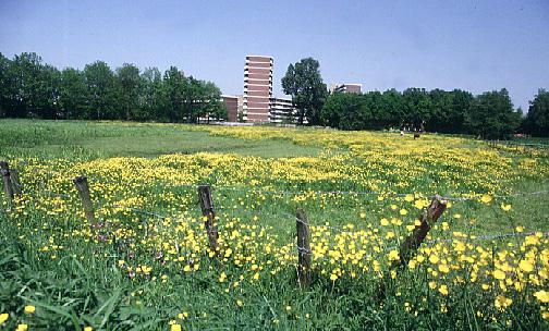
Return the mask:
<path fill-rule="evenodd" d="M 414 232 L 406 237 L 400 246 L 400 263 L 406 266 L 412 257 L 417 253 L 427 233 L 444 212 L 447 200 L 440 195 L 435 195 L 429 207 L 419 216 L 419 225 L 416 225 Z"/>

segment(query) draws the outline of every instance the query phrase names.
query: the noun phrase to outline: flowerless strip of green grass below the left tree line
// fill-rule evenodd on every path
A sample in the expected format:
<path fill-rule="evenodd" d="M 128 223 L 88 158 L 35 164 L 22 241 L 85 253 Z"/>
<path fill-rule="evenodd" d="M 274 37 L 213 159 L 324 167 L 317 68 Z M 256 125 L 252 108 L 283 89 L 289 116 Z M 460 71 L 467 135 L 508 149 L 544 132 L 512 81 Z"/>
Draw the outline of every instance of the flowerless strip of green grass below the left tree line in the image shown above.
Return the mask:
<path fill-rule="evenodd" d="M 0 120 L 0 155 L 41 158 L 152 158 L 200 151 L 283 158 L 316 156 L 321 150 L 283 139 L 253 142 L 212 136 L 188 125 Z"/>

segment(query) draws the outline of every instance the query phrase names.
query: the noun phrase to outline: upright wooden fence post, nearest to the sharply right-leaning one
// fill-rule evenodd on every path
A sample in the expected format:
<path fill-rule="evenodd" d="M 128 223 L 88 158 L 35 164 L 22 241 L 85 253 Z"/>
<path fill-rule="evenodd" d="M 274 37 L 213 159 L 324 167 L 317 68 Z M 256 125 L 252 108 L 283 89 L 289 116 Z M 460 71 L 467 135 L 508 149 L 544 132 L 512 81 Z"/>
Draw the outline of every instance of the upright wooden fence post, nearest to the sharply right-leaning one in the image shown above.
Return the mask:
<path fill-rule="evenodd" d="M 310 252 L 310 231 L 307 216 L 303 209 L 297 209 L 295 221 L 297 225 L 297 278 L 300 280 L 300 286 L 305 289 L 310 284 L 313 253 Z"/>

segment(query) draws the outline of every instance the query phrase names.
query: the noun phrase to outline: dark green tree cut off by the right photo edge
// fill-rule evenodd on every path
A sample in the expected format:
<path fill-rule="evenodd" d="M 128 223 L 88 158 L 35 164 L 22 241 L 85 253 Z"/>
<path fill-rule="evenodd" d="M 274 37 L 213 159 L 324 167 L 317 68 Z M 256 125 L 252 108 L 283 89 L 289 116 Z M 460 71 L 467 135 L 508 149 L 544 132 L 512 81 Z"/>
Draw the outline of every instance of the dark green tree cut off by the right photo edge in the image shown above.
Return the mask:
<path fill-rule="evenodd" d="M 549 91 L 546 89 L 540 88 L 529 101 L 524 127 L 533 136 L 549 137 Z"/>

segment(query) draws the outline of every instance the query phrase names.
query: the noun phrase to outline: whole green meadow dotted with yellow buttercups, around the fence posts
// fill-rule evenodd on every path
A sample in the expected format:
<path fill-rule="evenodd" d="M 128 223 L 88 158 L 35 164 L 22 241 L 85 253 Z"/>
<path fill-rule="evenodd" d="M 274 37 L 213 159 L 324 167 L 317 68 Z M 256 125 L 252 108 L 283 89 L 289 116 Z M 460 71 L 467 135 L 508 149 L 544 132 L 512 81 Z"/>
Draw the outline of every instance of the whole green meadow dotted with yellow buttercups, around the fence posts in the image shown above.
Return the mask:
<path fill-rule="evenodd" d="M 0 160 L 23 184 L 0 199 L 0 329 L 549 330 L 547 149 L 436 134 L 0 120 Z M 212 189 L 219 257 L 200 184 Z M 435 194 L 448 198 L 444 213 L 392 268 Z M 312 230 L 308 289 L 296 277 L 297 208 Z"/>

